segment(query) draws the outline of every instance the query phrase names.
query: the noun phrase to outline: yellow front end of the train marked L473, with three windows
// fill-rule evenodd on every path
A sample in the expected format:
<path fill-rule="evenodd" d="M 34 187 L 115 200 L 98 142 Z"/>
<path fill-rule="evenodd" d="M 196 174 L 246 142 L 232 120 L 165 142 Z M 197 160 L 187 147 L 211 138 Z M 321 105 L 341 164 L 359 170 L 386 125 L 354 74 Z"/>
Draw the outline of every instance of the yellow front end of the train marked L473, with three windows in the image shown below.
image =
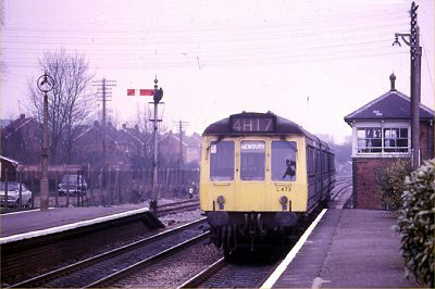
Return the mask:
<path fill-rule="evenodd" d="M 304 141 L 303 136 L 289 136 L 284 140 L 258 136 L 220 140 L 214 136 L 203 137 L 200 169 L 201 210 L 306 212 L 306 150 L 297 149 L 304 148 Z M 288 159 L 284 156 L 281 160 L 272 160 L 272 150 L 277 146 L 288 147 Z M 276 150 L 274 153 L 279 153 L 281 149 Z M 233 155 L 226 159 L 224 154 Z M 296 172 L 295 176 L 286 175 L 283 178 L 287 168 L 286 160 L 295 162 Z M 272 161 L 279 161 L 282 164 L 272 164 Z M 220 197 L 223 197 L 223 201 Z M 283 203 L 284 199 L 287 201 Z"/>

